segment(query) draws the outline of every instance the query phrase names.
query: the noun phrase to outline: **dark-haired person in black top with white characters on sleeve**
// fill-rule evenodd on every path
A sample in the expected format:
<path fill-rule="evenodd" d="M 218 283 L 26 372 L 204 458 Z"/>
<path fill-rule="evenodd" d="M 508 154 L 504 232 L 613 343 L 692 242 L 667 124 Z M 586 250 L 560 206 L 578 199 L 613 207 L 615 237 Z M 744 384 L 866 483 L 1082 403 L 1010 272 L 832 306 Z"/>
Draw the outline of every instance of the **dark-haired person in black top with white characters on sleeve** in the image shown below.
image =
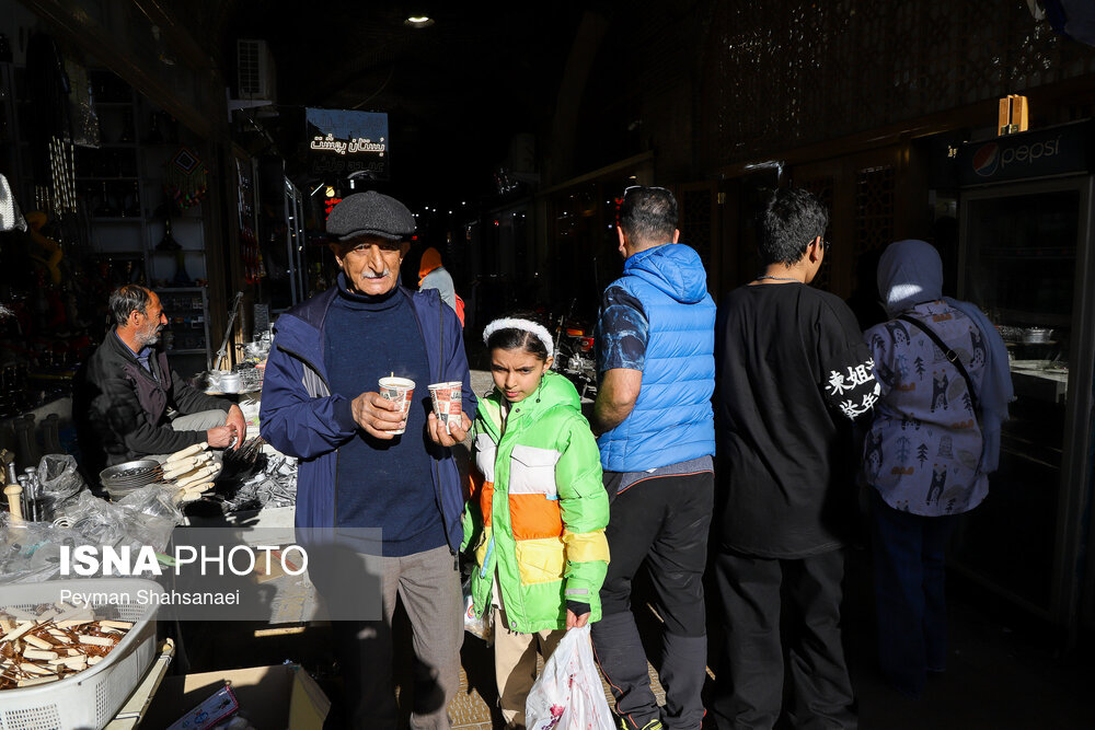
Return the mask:
<path fill-rule="evenodd" d="M 854 728 L 840 636 L 841 524 L 851 514 L 849 421 L 878 397 L 851 310 L 812 289 L 828 215 L 809 193 L 776 190 L 760 218 L 763 273 L 723 301 L 715 326 L 718 478 L 715 557 L 726 645 L 717 727 L 771 728 L 783 704 L 781 590 L 794 727 Z"/>

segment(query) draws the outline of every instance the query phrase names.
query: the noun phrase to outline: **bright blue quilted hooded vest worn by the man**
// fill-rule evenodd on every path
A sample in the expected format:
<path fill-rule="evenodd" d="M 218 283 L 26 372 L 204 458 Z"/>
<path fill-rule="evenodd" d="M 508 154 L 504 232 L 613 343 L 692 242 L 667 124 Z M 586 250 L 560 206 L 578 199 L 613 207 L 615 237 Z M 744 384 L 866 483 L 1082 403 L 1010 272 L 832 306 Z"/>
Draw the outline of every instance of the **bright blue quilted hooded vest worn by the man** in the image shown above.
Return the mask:
<path fill-rule="evenodd" d="M 635 408 L 597 440 L 601 467 L 645 472 L 714 454 L 715 302 L 700 256 L 683 244 L 641 251 L 612 286 L 642 302 L 649 339 Z"/>

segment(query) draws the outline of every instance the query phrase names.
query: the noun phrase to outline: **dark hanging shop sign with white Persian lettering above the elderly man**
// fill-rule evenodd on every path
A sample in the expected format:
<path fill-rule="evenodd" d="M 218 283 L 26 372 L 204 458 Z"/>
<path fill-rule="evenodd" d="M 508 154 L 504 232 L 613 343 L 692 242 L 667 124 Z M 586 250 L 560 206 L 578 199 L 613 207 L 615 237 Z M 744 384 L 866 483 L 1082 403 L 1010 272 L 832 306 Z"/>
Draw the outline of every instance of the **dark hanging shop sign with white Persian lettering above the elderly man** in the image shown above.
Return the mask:
<path fill-rule="evenodd" d="M 377 112 L 307 108 L 309 169 L 321 177 L 356 172 L 388 179 L 388 115 Z"/>

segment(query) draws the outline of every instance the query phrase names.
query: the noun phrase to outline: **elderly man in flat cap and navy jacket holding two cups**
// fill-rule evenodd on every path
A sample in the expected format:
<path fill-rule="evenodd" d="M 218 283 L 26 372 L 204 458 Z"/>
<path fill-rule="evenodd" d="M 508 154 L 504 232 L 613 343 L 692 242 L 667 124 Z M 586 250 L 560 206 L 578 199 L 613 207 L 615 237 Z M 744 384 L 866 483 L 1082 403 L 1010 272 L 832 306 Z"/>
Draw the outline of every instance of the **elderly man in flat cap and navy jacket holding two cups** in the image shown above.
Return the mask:
<path fill-rule="evenodd" d="M 347 725 L 394 728 L 391 618 L 402 599 L 418 660 L 412 728 L 449 728 L 463 640 L 457 568 L 463 490 L 450 447 L 475 416 L 456 312 L 436 290 L 400 285 L 415 231 L 411 211 L 376 192 L 331 211 L 337 286 L 283 314 L 263 384 L 262 436 L 300 459 L 298 528 L 378 528 L 382 621 L 350 635 Z M 406 416 L 378 393 L 394 374 L 415 382 Z M 429 383 L 463 383 L 463 422 L 434 416 Z M 376 565 L 376 564 L 373 564 Z M 345 647 L 344 647 L 345 648 Z M 357 669 L 353 669 L 356 667 Z"/>

